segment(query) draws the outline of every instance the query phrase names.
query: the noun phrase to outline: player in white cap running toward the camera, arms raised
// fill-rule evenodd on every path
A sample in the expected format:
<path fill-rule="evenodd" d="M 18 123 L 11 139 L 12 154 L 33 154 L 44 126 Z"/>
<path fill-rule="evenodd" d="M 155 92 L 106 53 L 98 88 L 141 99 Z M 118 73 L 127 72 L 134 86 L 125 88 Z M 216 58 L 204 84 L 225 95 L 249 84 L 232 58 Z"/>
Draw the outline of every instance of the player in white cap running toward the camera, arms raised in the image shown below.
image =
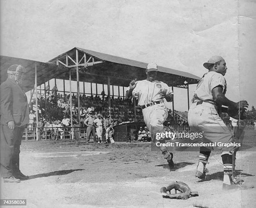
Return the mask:
<path fill-rule="evenodd" d="M 173 92 L 168 85 L 156 80 L 157 65 L 153 62 L 149 63 L 146 68 L 146 80 L 132 80 L 126 91 L 126 98 L 138 96 L 138 106 L 142 108 L 144 122 L 150 131 L 152 141 L 156 142 L 156 133 L 164 131 L 164 121 L 168 117 L 164 98 L 167 102 L 172 102 Z M 163 140 L 160 140 L 163 142 Z M 166 147 L 160 147 L 167 159 L 169 165 L 174 166 L 172 157 Z"/>

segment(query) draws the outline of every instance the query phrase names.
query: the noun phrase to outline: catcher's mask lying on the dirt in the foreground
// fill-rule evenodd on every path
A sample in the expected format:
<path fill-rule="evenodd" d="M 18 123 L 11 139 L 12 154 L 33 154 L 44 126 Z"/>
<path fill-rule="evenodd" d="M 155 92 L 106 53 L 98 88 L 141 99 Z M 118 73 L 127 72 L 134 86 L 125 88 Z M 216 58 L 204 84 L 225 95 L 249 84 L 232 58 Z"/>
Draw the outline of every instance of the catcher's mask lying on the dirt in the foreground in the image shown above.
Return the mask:
<path fill-rule="evenodd" d="M 171 194 L 171 190 L 174 189 L 175 193 Z M 177 190 L 180 193 L 177 193 Z M 169 191 L 169 193 L 167 193 Z M 162 187 L 160 192 L 163 198 L 177 198 L 177 199 L 188 199 L 190 196 L 198 196 L 197 191 L 191 191 L 186 183 L 180 181 L 173 181 L 167 187 Z"/>

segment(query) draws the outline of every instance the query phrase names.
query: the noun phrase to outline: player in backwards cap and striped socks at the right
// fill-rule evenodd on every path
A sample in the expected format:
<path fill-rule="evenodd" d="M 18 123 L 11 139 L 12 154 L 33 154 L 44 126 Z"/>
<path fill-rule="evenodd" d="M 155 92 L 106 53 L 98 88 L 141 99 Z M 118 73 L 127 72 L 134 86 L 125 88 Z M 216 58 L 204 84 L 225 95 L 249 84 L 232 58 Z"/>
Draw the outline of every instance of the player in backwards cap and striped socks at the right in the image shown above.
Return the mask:
<path fill-rule="evenodd" d="M 203 133 L 203 141 L 205 143 L 230 144 L 216 147 L 222 150 L 222 161 L 224 165 L 223 189 L 235 188 L 232 181 L 232 164 L 233 153 L 239 146 L 233 141 L 233 135 L 226 127 L 219 114 L 224 111 L 222 105 L 233 108 L 237 111 L 246 110 L 248 103 L 246 100 L 235 103 L 225 97 L 227 90 L 226 80 L 224 78 L 227 72 L 225 60 L 221 56 L 211 57 L 203 66 L 209 71 L 205 73 L 194 91 L 192 105 L 188 112 L 188 123 L 190 128 L 195 132 Z M 210 156 L 212 149 L 205 147 L 200 148 L 199 162 L 195 176 L 205 179 L 205 165 Z"/>

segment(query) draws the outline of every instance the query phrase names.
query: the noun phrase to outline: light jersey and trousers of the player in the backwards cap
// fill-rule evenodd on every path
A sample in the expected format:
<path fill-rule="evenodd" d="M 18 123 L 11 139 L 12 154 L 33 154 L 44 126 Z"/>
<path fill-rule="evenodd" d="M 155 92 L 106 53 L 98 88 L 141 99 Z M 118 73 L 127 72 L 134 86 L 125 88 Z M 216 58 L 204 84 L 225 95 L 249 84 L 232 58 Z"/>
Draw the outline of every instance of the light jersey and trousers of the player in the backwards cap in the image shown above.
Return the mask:
<path fill-rule="evenodd" d="M 202 132 L 205 142 L 233 142 L 232 133 L 228 130 L 218 113 L 220 111 L 212 98 L 212 89 L 221 86 L 223 94 L 227 90 L 223 75 L 210 71 L 205 73 L 194 91 L 192 105 L 188 112 L 188 123 L 195 132 Z M 222 151 L 233 152 L 235 147 L 217 146 Z"/>

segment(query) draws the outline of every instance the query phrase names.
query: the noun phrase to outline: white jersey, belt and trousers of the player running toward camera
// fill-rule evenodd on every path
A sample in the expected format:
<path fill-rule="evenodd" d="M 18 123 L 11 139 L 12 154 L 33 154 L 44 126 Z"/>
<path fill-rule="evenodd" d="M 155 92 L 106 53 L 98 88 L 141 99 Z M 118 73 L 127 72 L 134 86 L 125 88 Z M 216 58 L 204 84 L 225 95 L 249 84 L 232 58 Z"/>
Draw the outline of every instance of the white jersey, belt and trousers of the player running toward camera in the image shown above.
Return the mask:
<path fill-rule="evenodd" d="M 142 108 L 144 122 L 150 131 L 153 141 L 157 132 L 164 132 L 164 121 L 168 117 L 168 111 L 164 99 L 160 98 L 160 92 L 166 95 L 172 93 L 172 89 L 161 81 L 141 80 L 136 82 L 132 95 L 138 97 L 138 106 Z M 128 90 L 130 87 L 128 87 Z M 166 147 L 161 150 L 167 150 Z"/>

